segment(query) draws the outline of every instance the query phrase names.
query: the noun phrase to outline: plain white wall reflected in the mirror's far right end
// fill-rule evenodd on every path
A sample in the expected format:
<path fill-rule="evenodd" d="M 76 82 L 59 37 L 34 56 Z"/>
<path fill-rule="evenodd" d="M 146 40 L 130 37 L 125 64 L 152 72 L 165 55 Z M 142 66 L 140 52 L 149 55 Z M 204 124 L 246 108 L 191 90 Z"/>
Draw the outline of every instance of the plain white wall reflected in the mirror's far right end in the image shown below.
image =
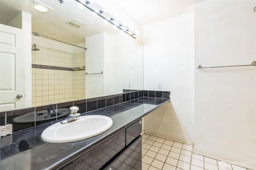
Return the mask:
<path fill-rule="evenodd" d="M 122 93 L 123 89 L 142 90 L 143 44 L 125 33 L 119 33 L 111 36 L 110 48 L 109 94 Z"/>

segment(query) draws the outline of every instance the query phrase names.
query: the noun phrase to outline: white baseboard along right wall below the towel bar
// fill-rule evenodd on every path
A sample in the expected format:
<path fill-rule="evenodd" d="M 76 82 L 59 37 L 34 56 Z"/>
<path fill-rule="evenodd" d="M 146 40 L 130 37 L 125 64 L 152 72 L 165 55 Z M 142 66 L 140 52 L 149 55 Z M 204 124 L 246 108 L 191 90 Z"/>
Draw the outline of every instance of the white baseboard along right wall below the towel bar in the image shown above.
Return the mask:
<path fill-rule="evenodd" d="M 207 152 L 202 152 L 200 150 L 196 150 L 195 148 L 193 149 L 193 153 L 200 154 L 202 156 L 206 156 L 206 157 L 209 157 L 209 158 L 214 158 L 216 160 L 220 160 L 222 162 L 227 162 L 229 164 L 242 166 L 242 167 L 247 168 L 247 169 L 256 170 L 256 165 L 251 164 L 251 162 L 240 162 L 240 161 L 232 160 L 232 159 L 225 158 L 225 157 L 222 157 L 222 156 L 219 156 L 219 155 L 214 155 L 214 154 L 210 154 L 210 153 L 207 153 Z"/>

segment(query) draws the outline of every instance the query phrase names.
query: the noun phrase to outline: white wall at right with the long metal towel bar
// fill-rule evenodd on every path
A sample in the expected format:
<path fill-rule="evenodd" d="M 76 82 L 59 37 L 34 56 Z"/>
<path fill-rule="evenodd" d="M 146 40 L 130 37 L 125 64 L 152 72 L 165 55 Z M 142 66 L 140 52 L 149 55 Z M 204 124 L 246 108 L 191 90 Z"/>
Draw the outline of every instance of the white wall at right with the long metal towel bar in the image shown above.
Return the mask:
<path fill-rule="evenodd" d="M 256 60 L 255 6 L 255 0 L 195 5 L 194 68 Z M 256 68 L 194 72 L 195 151 L 256 165 Z"/>

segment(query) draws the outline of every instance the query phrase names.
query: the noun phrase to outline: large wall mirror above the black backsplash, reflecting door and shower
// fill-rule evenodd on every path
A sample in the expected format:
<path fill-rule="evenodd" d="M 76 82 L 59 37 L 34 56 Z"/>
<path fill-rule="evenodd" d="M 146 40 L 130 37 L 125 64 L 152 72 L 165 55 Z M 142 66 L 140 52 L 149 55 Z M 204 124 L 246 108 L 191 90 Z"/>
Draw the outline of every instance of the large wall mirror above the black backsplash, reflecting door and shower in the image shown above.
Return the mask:
<path fill-rule="evenodd" d="M 0 1 L 0 111 L 143 89 L 142 43 L 76 0 L 39 1 Z"/>

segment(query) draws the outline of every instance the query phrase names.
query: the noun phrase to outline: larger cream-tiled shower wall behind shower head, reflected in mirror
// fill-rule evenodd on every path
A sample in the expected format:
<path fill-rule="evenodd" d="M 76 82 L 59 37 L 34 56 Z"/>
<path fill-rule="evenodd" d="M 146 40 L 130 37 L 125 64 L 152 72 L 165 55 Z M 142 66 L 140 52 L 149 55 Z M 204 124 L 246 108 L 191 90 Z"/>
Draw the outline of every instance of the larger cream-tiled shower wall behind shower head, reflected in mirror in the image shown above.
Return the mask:
<path fill-rule="evenodd" d="M 72 67 L 72 54 L 40 47 L 32 64 Z M 72 79 L 72 71 L 32 68 L 32 106 L 73 100 Z"/>

